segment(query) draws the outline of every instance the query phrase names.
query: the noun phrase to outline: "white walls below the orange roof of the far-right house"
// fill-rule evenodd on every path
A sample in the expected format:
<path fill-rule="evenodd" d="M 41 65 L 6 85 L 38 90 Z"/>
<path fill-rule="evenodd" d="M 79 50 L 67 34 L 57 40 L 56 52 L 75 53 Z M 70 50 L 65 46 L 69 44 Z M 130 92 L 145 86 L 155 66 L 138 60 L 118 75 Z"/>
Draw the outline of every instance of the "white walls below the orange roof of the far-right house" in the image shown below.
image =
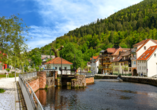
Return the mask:
<path fill-rule="evenodd" d="M 152 77 L 157 75 L 157 49 L 147 60 L 137 61 L 137 73 Z"/>

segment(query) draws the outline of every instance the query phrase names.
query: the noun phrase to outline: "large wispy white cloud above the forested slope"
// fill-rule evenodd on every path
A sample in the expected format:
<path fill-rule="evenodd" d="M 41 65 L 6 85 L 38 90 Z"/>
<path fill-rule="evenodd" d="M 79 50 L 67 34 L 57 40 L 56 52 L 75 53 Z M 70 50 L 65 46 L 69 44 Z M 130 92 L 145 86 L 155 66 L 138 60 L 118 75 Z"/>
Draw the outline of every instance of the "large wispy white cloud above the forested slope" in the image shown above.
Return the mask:
<path fill-rule="evenodd" d="M 70 30 L 104 19 L 118 10 L 139 3 L 142 0 L 34 0 L 43 26 L 32 26 L 30 36 L 38 37 L 37 42 L 29 43 L 44 46 L 56 37 Z M 49 41 L 51 40 L 51 41 Z"/>

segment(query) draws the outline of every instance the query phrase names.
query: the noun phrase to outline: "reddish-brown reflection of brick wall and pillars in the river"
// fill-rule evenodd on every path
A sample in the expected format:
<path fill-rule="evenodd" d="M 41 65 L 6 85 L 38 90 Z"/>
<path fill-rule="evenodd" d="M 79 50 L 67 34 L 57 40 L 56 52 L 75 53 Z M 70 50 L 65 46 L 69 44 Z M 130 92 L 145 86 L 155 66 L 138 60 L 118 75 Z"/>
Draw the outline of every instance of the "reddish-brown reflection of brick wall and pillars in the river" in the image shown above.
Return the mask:
<path fill-rule="evenodd" d="M 69 90 L 65 90 L 62 94 L 61 87 L 52 87 L 47 90 L 38 90 L 36 95 L 43 105 L 43 108 L 50 110 L 67 110 L 67 106 L 74 109 L 78 104 L 77 95 L 70 94 Z M 79 91 L 84 91 L 85 89 L 80 89 Z M 66 95 L 67 97 L 66 97 Z M 70 97 L 69 97 L 70 94 Z"/>

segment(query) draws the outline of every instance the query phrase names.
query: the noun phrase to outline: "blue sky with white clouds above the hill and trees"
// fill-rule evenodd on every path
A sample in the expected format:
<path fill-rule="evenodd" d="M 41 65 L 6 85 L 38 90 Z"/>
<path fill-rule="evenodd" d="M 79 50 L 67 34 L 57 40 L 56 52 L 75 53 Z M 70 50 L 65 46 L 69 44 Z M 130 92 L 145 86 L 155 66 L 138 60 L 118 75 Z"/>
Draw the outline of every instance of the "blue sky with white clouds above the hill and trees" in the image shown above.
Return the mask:
<path fill-rule="evenodd" d="M 29 50 L 142 0 L 0 0 L 0 16 L 17 15 L 29 28 Z M 19 15 L 18 15 L 19 14 Z"/>

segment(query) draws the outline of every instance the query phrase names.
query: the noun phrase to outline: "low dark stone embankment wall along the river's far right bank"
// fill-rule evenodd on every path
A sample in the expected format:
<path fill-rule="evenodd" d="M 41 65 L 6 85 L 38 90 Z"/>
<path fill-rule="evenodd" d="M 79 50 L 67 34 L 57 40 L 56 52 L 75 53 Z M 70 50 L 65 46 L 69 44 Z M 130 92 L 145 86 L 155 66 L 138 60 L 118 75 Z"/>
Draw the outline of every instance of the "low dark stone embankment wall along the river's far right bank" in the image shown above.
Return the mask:
<path fill-rule="evenodd" d="M 95 75 L 95 79 L 117 79 L 117 75 Z M 139 76 L 122 76 L 124 82 L 143 83 L 157 86 L 157 78 L 139 77 Z"/>

